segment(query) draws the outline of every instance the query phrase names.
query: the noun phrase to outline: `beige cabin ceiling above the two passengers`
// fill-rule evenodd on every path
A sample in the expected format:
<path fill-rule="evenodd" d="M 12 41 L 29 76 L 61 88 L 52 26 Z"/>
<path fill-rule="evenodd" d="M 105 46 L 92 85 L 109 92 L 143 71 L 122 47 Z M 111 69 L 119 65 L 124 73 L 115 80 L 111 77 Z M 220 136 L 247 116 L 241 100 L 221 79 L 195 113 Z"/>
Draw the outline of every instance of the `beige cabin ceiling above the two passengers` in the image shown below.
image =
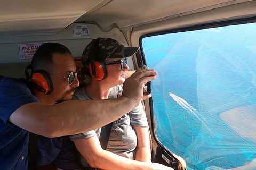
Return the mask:
<path fill-rule="evenodd" d="M 74 22 L 119 28 L 156 22 L 248 0 L 0 0 L 0 32 L 55 34 Z"/>

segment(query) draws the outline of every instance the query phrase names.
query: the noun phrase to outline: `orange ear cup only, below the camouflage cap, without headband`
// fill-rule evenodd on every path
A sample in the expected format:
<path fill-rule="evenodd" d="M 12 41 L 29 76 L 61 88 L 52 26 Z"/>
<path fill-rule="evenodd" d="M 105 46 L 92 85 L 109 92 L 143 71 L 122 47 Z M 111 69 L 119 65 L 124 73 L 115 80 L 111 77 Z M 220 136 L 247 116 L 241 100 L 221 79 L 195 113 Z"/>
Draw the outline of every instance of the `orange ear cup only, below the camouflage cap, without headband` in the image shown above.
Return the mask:
<path fill-rule="evenodd" d="M 100 61 L 95 61 L 94 65 L 95 65 L 95 75 L 93 75 L 91 63 L 89 63 L 89 66 L 88 66 L 89 72 L 90 72 L 92 78 L 95 80 L 105 79 L 107 77 L 107 70 L 106 70 L 105 64 Z"/>

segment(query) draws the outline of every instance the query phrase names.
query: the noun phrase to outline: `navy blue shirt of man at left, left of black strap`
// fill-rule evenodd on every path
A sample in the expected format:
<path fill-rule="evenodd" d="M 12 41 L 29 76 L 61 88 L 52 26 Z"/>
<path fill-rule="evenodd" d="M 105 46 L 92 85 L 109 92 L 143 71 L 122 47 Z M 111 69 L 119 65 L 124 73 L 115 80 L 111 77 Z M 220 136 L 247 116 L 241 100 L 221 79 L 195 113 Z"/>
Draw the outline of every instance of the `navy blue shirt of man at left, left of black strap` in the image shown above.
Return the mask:
<path fill-rule="evenodd" d="M 0 169 L 27 169 L 29 132 L 8 121 L 22 105 L 39 102 L 26 79 L 0 77 Z"/>

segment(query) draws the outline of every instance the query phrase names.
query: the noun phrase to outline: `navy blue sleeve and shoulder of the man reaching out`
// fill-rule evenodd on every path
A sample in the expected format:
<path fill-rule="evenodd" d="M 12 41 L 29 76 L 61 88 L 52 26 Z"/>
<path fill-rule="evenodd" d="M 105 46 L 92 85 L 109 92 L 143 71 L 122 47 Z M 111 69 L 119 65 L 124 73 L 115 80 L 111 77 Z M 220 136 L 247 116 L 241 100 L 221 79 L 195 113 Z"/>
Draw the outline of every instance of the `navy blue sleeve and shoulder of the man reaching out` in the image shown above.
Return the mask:
<path fill-rule="evenodd" d="M 8 118 L 20 106 L 32 102 L 39 102 L 31 94 L 25 79 L 3 78 L 0 79 L 0 119 L 9 124 Z"/>

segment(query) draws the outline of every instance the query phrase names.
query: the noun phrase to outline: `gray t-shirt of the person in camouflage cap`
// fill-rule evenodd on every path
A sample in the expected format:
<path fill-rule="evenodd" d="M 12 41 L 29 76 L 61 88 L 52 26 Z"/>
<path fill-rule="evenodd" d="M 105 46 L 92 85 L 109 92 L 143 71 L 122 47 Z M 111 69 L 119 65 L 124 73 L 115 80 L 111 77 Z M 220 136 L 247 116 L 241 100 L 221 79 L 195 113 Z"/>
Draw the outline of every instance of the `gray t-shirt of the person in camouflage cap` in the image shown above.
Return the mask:
<path fill-rule="evenodd" d="M 108 98 L 120 97 L 122 94 L 122 89 L 123 86 L 121 84 L 112 87 L 110 89 L 110 94 Z M 92 100 L 86 90 L 86 87 L 78 89 L 75 92 L 73 99 Z M 125 114 L 124 116 L 118 118 L 116 121 L 113 122 L 106 150 L 126 158 L 134 159 L 135 148 L 137 146 L 137 137 L 132 126 L 148 127 L 147 117 L 141 103 L 131 112 Z M 100 132 L 101 128 L 81 134 L 71 135 L 70 140 L 74 141 L 78 139 L 90 138 L 95 135 L 97 135 L 99 138 Z M 88 165 L 82 155 L 81 163 L 84 166 Z"/>

